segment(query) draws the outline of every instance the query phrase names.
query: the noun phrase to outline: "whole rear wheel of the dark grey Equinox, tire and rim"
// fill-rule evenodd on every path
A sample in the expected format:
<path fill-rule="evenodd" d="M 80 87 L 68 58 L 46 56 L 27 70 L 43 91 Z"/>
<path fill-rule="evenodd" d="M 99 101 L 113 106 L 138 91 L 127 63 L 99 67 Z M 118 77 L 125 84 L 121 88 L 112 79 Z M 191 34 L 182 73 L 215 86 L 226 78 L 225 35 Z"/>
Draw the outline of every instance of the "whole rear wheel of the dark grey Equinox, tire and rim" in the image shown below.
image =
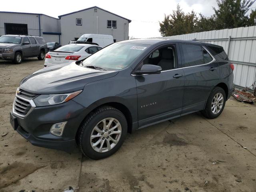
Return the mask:
<path fill-rule="evenodd" d="M 202 114 L 209 119 L 218 117 L 226 104 L 225 91 L 220 87 L 215 87 L 206 102 L 206 107 Z"/>

